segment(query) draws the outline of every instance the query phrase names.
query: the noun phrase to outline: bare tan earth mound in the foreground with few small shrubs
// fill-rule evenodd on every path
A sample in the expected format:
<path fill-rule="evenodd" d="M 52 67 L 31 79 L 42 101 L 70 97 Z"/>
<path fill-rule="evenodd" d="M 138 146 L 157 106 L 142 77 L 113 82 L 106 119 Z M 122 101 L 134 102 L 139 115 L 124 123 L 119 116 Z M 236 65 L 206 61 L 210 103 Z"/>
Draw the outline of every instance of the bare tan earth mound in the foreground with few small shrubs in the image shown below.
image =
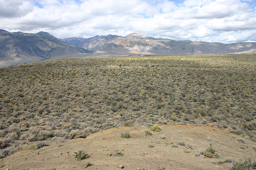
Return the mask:
<path fill-rule="evenodd" d="M 0 160 L 5 164 L 1 170 L 159 170 L 159 169 L 229 169 L 231 163 L 215 165 L 216 158 L 195 156 L 199 150 L 212 147 L 218 150 L 220 158 L 256 158 L 256 150 L 252 148 L 254 142 L 243 139 L 228 131 L 216 127 L 196 127 L 185 125 L 163 125 L 160 132 L 146 135 L 142 127 L 113 128 L 89 135 L 86 139 L 73 139 L 65 143 L 58 143 L 38 150 L 19 151 Z M 130 133 L 130 138 L 120 137 L 121 133 Z M 164 135 L 164 136 L 163 136 Z M 161 139 L 165 137 L 166 139 Z M 186 146 L 171 147 L 167 143 L 184 142 L 192 145 L 193 149 L 186 153 Z M 149 147 L 148 145 L 154 145 Z M 76 160 L 74 152 L 80 149 L 86 151 L 90 157 Z M 114 150 L 121 151 L 123 156 L 110 156 Z M 88 167 L 84 162 L 90 162 Z M 211 162 L 210 162 L 211 161 Z"/>

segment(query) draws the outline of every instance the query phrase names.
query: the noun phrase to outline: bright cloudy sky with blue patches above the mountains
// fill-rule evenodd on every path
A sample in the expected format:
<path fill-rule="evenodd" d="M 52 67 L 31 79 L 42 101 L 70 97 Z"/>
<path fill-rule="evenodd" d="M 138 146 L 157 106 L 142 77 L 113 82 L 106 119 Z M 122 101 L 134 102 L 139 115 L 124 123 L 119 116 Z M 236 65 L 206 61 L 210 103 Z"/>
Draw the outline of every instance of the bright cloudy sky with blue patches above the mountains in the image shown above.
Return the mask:
<path fill-rule="evenodd" d="M 0 0 L 0 29 L 57 38 L 139 33 L 256 42 L 256 0 Z"/>

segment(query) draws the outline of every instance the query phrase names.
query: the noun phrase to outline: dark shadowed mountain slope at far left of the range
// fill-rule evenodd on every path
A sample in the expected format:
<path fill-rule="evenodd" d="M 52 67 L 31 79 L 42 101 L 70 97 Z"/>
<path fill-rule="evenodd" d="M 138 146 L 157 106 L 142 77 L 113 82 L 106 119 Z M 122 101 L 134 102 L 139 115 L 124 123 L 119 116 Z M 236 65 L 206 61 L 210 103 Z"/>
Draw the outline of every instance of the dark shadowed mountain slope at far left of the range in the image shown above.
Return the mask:
<path fill-rule="evenodd" d="M 30 63 L 45 59 L 65 58 L 89 51 L 71 46 L 46 32 L 36 34 L 0 30 L 0 62 Z M 22 60 L 22 61 L 21 61 Z"/>

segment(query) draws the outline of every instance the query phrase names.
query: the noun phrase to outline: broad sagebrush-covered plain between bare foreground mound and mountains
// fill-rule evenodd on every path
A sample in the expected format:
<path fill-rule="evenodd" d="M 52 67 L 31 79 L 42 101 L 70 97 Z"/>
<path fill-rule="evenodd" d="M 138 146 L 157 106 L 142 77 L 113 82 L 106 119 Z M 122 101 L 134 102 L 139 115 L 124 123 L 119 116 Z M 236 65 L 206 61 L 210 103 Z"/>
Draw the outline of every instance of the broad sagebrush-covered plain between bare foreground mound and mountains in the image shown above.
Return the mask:
<path fill-rule="evenodd" d="M 254 55 L 218 54 L 0 68 L 1 153 L 12 154 L 16 141 L 85 138 L 134 122 L 155 132 L 158 125 L 214 126 L 256 141 L 255 65 Z"/>

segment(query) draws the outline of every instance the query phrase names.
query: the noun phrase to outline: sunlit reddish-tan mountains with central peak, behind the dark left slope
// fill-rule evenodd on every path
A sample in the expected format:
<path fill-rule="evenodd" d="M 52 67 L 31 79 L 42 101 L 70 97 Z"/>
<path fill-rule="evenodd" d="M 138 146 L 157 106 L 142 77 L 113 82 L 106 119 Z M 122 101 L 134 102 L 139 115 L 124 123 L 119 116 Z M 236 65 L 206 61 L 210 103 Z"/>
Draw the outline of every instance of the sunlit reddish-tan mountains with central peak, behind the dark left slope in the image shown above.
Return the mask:
<path fill-rule="evenodd" d="M 138 33 L 125 37 L 97 35 L 88 39 L 68 38 L 64 42 L 95 53 L 142 55 L 196 55 L 219 53 L 256 53 L 256 43 L 209 43 L 153 38 Z"/>

